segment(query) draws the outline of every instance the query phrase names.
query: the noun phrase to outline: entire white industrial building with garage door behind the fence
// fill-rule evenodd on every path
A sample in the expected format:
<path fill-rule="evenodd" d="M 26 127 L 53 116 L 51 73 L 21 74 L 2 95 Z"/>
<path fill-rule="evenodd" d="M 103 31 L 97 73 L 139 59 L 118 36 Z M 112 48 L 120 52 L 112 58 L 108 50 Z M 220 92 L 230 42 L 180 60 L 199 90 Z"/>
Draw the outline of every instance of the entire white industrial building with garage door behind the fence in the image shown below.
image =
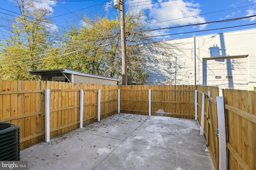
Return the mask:
<path fill-rule="evenodd" d="M 145 84 L 256 86 L 256 29 L 144 44 L 139 54 L 146 60 Z"/>

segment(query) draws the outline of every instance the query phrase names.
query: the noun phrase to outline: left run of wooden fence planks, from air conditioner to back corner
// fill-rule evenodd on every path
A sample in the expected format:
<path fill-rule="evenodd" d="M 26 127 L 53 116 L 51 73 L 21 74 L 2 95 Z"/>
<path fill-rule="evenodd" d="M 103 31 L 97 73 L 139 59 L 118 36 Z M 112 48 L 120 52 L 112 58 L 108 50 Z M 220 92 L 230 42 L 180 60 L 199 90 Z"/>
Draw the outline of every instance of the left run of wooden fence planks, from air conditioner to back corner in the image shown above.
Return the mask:
<path fill-rule="evenodd" d="M 45 89 L 49 89 L 50 138 L 78 128 L 80 113 L 83 125 L 95 121 L 98 113 L 101 117 L 117 113 L 115 85 L 0 80 L 0 121 L 19 125 L 21 150 L 45 140 Z"/>

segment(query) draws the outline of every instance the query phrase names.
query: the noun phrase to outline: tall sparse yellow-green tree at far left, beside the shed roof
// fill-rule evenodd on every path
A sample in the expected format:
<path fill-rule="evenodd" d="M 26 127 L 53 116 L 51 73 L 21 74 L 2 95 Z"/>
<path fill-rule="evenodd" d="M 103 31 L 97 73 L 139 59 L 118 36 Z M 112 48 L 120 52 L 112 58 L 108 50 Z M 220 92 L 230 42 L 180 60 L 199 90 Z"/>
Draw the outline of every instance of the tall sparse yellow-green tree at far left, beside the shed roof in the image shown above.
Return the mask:
<path fill-rule="evenodd" d="M 0 42 L 0 77 L 5 80 L 31 80 L 35 76 L 29 70 L 37 70 L 48 47 L 54 43 L 50 37 L 51 12 L 46 8 L 36 8 L 34 0 L 15 0 L 20 16 L 4 18 L 8 23 L 10 36 Z M 8 26 L 11 25 L 11 26 Z"/>

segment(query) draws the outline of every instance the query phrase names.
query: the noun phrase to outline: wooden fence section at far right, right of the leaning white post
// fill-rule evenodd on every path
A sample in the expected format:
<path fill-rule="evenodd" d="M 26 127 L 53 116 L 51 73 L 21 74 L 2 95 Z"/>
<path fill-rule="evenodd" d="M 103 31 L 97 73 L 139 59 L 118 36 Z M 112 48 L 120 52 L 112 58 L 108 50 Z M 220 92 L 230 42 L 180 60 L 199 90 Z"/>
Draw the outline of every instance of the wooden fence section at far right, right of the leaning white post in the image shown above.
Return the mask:
<path fill-rule="evenodd" d="M 256 92 L 223 90 L 228 169 L 256 169 Z"/>

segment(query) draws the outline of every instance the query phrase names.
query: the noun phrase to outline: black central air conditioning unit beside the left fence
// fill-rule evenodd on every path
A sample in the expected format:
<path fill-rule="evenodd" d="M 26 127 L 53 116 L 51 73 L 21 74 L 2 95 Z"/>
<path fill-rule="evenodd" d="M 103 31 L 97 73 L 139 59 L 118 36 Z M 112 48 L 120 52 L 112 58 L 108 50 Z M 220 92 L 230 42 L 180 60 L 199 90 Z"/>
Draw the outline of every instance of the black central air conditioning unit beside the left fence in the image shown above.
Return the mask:
<path fill-rule="evenodd" d="M 0 160 L 20 160 L 20 127 L 0 122 Z"/>

